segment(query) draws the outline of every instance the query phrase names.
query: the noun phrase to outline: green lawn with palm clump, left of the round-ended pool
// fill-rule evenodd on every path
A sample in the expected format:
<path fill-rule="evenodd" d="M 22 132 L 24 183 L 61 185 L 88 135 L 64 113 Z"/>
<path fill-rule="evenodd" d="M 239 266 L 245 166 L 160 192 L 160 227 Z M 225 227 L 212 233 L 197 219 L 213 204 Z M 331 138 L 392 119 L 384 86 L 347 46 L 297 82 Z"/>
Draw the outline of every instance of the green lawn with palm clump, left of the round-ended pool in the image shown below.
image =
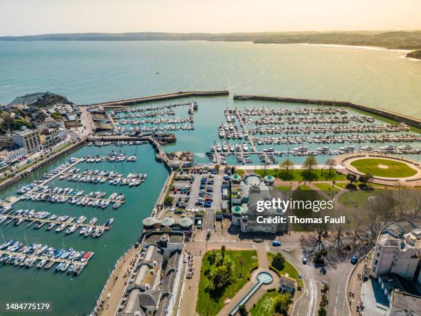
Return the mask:
<path fill-rule="evenodd" d="M 224 301 L 227 298 L 233 298 L 235 294 L 248 282 L 247 278 L 250 276 L 252 268 L 257 266 L 257 253 L 255 250 L 233 251 L 226 250 L 225 262 L 229 260 L 233 264 L 233 281 L 224 288 L 224 290 L 213 291 L 209 286 L 209 280 L 206 277 L 208 273 L 214 271 L 217 266 L 213 264 L 210 266 L 208 260 L 208 253 L 206 253 L 202 260 L 202 270 L 200 271 L 199 293 L 197 297 L 197 313 L 199 315 L 217 315 L 219 310 L 224 307 Z M 215 251 L 217 256 L 221 251 Z M 253 259 L 255 257 L 255 259 Z M 244 260 L 242 265 L 239 260 Z M 242 273 L 240 275 L 240 272 Z"/>

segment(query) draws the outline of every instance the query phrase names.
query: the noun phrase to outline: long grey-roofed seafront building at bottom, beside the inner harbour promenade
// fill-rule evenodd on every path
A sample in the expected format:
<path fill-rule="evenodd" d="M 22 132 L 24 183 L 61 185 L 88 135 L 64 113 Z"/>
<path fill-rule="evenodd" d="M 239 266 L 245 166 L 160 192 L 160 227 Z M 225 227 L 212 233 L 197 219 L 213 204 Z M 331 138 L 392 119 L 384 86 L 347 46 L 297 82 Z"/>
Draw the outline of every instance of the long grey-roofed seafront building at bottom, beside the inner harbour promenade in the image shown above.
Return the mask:
<path fill-rule="evenodd" d="M 172 315 L 182 273 L 184 235 L 151 231 L 142 235 L 142 250 L 116 315 Z"/>

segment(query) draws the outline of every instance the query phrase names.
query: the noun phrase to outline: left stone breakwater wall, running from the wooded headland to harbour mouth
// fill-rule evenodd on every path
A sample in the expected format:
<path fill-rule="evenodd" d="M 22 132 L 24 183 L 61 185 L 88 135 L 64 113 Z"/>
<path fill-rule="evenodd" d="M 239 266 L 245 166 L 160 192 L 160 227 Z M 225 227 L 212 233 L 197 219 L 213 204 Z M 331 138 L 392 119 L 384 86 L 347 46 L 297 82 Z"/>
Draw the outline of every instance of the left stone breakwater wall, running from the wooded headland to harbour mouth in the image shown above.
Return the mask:
<path fill-rule="evenodd" d="M 142 98 L 131 98 L 126 100 L 120 101 L 111 101 L 111 102 L 104 102 L 104 103 L 94 103 L 88 106 L 100 106 L 105 109 L 116 109 L 120 107 L 125 107 L 127 105 L 135 105 L 139 103 L 149 103 L 155 101 L 165 101 L 165 100 L 172 100 L 175 98 L 188 98 L 192 96 L 228 96 L 228 90 L 220 90 L 220 91 L 186 91 L 186 92 L 175 92 L 169 94 L 158 94 L 156 96 L 144 96 Z"/>

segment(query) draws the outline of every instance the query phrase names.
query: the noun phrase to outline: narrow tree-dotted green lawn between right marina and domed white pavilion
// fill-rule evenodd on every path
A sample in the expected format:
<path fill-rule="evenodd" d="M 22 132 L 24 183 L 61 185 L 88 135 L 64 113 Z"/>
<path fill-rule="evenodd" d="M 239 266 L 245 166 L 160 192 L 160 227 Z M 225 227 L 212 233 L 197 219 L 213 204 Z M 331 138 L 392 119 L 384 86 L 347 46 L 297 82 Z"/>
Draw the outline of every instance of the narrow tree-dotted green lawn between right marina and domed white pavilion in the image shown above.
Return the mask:
<path fill-rule="evenodd" d="M 260 176 L 273 176 L 274 178 L 279 178 L 285 181 L 308 181 L 308 180 L 347 180 L 347 178 L 343 174 L 336 173 L 335 170 L 330 172 L 326 169 L 314 169 L 312 170 L 312 178 L 309 179 L 307 176 L 307 170 L 297 170 L 293 169 L 290 170 L 288 176 L 285 175 L 285 171 L 279 169 L 259 169 L 256 170 L 255 173 L 259 174 Z"/>

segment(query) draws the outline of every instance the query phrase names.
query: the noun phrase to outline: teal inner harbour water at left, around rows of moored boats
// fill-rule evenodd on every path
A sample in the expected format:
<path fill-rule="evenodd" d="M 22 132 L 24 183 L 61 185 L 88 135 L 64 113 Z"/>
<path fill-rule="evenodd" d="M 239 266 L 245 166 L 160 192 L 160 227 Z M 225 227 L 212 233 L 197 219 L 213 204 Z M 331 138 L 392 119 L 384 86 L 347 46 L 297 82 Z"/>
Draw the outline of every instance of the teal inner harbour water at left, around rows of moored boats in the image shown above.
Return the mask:
<path fill-rule="evenodd" d="M 12 208 L 17 211 L 21 209 L 23 211 L 27 209 L 31 211 L 34 209 L 36 213 L 47 212 L 50 213 L 50 215 L 41 218 L 41 220 L 32 217 L 28 220 L 27 216 L 23 216 L 25 220 L 23 220 L 21 224 L 15 226 L 14 222 L 22 218 L 21 215 L 14 215 L 17 211 L 11 212 L 9 216 L 6 215 L 6 220 L 0 224 L 0 244 L 10 239 L 25 239 L 28 240 L 28 242 L 25 241 L 24 244 L 31 244 L 34 242 L 37 244 L 48 244 L 49 247 L 52 246 L 54 249 L 69 249 L 69 247 L 72 247 L 73 249 L 78 250 L 88 249 L 95 253 L 92 260 L 89 260 L 89 264 L 83 265 L 83 273 L 78 275 L 78 277 L 76 277 L 77 273 L 67 274 L 69 271 L 68 269 L 72 265 L 67 261 L 64 263 L 70 263 L 70 265 L 66 271 L 60 270 L 56 273 L 40 274 L 41 271 L 44 272 L 45 266 L 50 266 L 50 272 L 56 271 L 56 267 L 63 259 L 54 259 L 54 262 L 48 260 L 43 263 L 44 265 L 42 268 L 36 268 L 38 264 L 41 264 L 41 262 L 46 259 L 41 257 L 34 262 L 32 268 L 18 269 L 14 264 L 0 264 L 1 282 L 8 282 L 8 284 L 14 286 L 14 288 L 19 288 L 19 284 L 25 284 L 25 286 L 32 286 L 34 288 L 36 286 L 43 286 L 45 291 L 38 294 L 32 293 L 32 297 L 34 297 L 34 299 L 36 299 L 36 297 L 41 299 L 41 297 L 44 297 L 47 293 L 47 295 L 51 297 L 52 302 L 56 304 L 55 313 L 60 313 L 61 315 L 67 315 L 68 309 L 65 308 L 65 306 L 67 302 L 69 302 L 69 299 L 78 299 L 78 302 L 81 302 L 80 309 L 76 308 L 75 313 L 78 315 L 89 313 L 96 301 L 96 295 L 98 295 L 100 288 L 102 288 L 107 278 L 109 268 L 114 266 L 120 253 L 124 252 L 125 247 L 128 249 L 133 243 L 133 240 L 136 240 L 139 234 L 140 225 L 142 224 L 142 219 L 149 215 L 162 183 L 168 174 L 165 167 L 160 162 L 155 162 L 153 149 L 149 144 L 142 143 L 130 145 L 129 142 L 120 144 L 113 142 L 107 145 L 95 146 L 95 154 L 98 156 L 108 156 L 108 153 L 113 150 L 114 152 L 119 153 L 120 149 L 123 153 L 127 154 L 127 157 L 142 156 L 141 160 L 129 161 L 126 158 L 126 160 L 119 163 L 110 163 L 109 161 L 92 163 L 88 162 L 87 159 L 84 160 L 83 158 L 92 156 L 93 147 L 94 145 L 92 147 L 85 146 L 71 155 L 80 160 L 73 166 L 74 168 L 80 169 L 80 171 L 98 169 L 100 171 L 114 172 L 124 175 L 124 178 L 127 178 L 129 173 L 149 173 L 153 174 L 153 182 L 149 182 L 147 187 L 144 187 L 143 185 L 140 185 L 139 187 L 129 187 L 129 185 L 109 185 L 109 180 L 104 183 L 72 181 L 72 187 L 73 190 L 76 191 L 76 194 L 80 191 L 84 191 L 80 197 L 83 197 L 90 192 L 105 193 L 105 196 L 100 198 L 100 200 L 109 198 L 113 193 L 118 193 L 117 196 L 119 194 L 124 195 L 125 200 L 124 202 L 120 201 L 122 203 L 118 211 L 112 208 L 113 204 L 111 202 L 109 207 L 106 207 L 105 209 L 102 209 L 102 207 L 98 209 L 98 207 L 92 207 L 88 204 L 85 204 L 85 207 L 76 207 L 78 206 L 77 202 L 76 204 L 69 203 L 69 200 L 75 198 L 76 194 L 70 196 L 67 194 L 69 200 L 64 203 L 42 200 L 36 201 L 32 199 L 26 200 L 22 198 L 25 193 L 17 195 L 19 189 L 30 185 L 33 185 L 34 187 L 41 185 L 42 187 L 48 187 L 48 189 L 52 190 L 54 188 L 64 190 L 66 187 L 70 187 L 69 185 L 65 185 L 69 184 L 68 178 L 60 178 L 67 174 L 67 171 L 72 169 L 72 167 L 69 167 L 70 164 L 67 164 L 71 158 L 67 156 L 67 158 L 62 158 L 56 162 L 56 164 L 36 171 L 36 173 L 28 176 L 28 178 L 18 182 L 17 185 L 2 192 L 2 197 L 12 196 L 12 198 L 7 198 L 6 200 L 10 200 L 10 202 L 12 202 Z M 76 159 L 74 159 L 74 162 L 76 162 Z M 62 165 L 66 165 L 66 169 L 61 167 Z M 69 168 L 67 169 L 67 167 Z M 60 170 L 58 170 L 58 168 Z M 50 180 L 48 181 L 44 176 Z M 149 177 L 151 176 L 149 175 L 146 181 L 149 180 Z M 44 182 L 45 180 L 47 181 Z M 35 191 L 31 192 L 36 193 Z M 65 198 L 63 193 L 58 194 L 58 196 Z M 112 198 L 113 202 L 118 202 L 115 200 L 117 196 Z M 139 205 L 138 199 L 142 201 L 141 206 Z M 89 199 L 89 202 L 94 202 L 94 200 L 95 199 Z M 0 215 L 0 218 L 2 215 Z M 45 214 L 42 214 L 41 217 L 43 217 L 43 215 Z M 62 218 L 63 222 L 60 222 L 57 218 L 50 220 L 49 218 L 52 215 L 57 215 L 57 218 L 61 216 L 69 216 L 69 218 L 67 220 Z M 82 218 L 81 220 L 83 220 L 83 222 L 78 223 L 78 219 L 80 219 L 81 216 L 87 219 L 83 220 Z M 89 224 L 89 222 L 95 218 L 96 222 Z M 114 218 L 114 223 L 111 224 L 112 229 L 107 229 L 107 227 L 105 227 L 105 222 L 110 218 Z M 12 222 L 6 224 L 6 222 L 10 220 L 12 220 Z M 70 220 L 72 220 L 72 222 L 69 222 Z M 39 224 L 40 222 L 42 223 L 42 226 Z M 50 228 L 50 224 L 54 224 L 54 226 L 51 229 L 47 229 Z M 63 224 L 65 227 L 61 227 Z M 28 225 L 30 226 L 28 227 Z M 37 225 L 40 225 L 40 227 Z M 76 229 L 73 231 L 73 229 L 71 229 L 72 227 L 76 227 Z M 82 234 L 81 232 L 85 228 L 89 229 L 89 227 L 92 231 L 85 237 L 86 231 Z M 61 229 L 56 231 L 58 228 Z M 100 235 L 100 238 L 91 237 L 92 233 L 98 228 L 103 230 L 103 234 Z M 71 229 L 69 233 L 66 233 L 69 229 Z M 63 244 L 65 244 L 65 246 Z M 19 253 L 13 255 L 19 255 Z M 65 264 L 63 264 L 63 266 L 64 265 Z M 61 268 L 63 268 L 63 266 L 61 266 Z M 76 269 L 76 272 L 77 271 L 78 269 Z M 80 293 L 83 293 L 83 295 L 81 296 Z M 8 295 L 3 295 L 2 299 L 8 299 Z M 63 308 L 61 308 L 61 304 L 63 304 Z"/>

